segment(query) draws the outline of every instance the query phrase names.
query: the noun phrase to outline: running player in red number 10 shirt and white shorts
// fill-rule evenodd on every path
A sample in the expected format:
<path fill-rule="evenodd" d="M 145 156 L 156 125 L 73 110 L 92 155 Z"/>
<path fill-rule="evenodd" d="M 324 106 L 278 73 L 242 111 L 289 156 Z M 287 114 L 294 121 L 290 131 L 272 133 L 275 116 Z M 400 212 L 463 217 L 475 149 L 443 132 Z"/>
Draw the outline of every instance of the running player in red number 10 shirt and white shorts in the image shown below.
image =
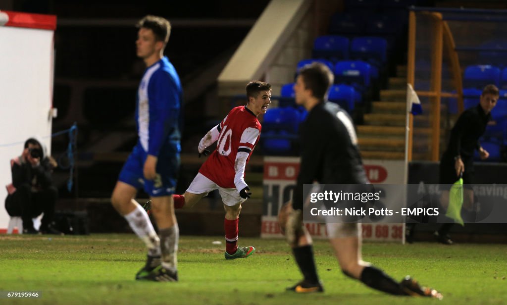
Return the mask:
<path fill-rule="evenodd" d="M 246 106 L 233 108 L 219 125 L 199 142 L 199 157 L 207 156 L 206 147 L 218 141 L 216 149 L 199 169 L 184 195 L 173 195 L 174 207 L 193 206 L 214 189 L 219 190 L 226 211 L 224 219 L 226 259 L 243 258 L 255 252 L 252 246 L 238 247 L 238 218 L 241 203 L 250 198 L 244 180 L 245 166 L 261 136 L 257 117 L 271 103 L 271 85 L 252 81 L 246 85 Z"/>

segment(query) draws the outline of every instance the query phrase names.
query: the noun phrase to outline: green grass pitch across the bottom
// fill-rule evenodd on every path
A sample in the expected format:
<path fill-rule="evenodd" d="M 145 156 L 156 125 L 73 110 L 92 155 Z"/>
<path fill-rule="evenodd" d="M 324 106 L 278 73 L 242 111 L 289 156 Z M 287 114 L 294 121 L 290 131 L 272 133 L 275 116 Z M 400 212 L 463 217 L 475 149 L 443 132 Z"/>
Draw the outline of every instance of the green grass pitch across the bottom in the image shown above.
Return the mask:
<path fill-rule="evenodd" d="M 222 237 L 182 236 L 178 283 L 136 282 L 144 247 L 133 234 L 0 236 L 0 291 L 40 291 L 37 299 L 0 304 L 507 304 L 507 246 L 433 243 L 365 244 L 363 258 L 396 280 L 411 275 L 444 294 L 442 301 L 374 291 L 341 272 L 327 241 L 315 242 L 321 294 L 294 294 L 301 279 L 284 240 L 240 238 L 255 246 L 225 260 Z"/>

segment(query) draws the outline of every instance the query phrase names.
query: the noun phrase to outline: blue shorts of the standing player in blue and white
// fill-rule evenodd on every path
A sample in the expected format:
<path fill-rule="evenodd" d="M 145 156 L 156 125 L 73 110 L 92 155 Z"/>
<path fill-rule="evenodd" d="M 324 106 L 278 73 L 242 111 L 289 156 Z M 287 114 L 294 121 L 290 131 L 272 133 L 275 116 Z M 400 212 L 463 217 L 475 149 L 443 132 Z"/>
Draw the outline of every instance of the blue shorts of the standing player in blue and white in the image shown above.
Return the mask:
<path fill-rule="evenodd" d="M 172 195 L 176 188 L 180 162 L 179 153 L 181 150 L 179 141 L 165 142 L 162 148 L 160 148 L 155 169 L 157 178 L 155 180 L 147 180 L 144 178 L 142 170 L 148 153 L 137 142 L 123 165 L 118 180 L 130 184 L 137 189 L 142 187 L 144 192 L 148 193 L 150 197 Z"/>

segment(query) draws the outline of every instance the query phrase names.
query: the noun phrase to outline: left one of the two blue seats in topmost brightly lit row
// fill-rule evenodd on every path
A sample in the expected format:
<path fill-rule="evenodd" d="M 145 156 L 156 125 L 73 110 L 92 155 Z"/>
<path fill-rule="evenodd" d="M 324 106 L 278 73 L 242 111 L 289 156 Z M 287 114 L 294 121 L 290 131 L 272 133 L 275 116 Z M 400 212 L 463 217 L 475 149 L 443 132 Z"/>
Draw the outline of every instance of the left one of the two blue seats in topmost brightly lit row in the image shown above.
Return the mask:
<path fill-rule="evenodd" d="M 348 59 L 349 40 L 338 35 L 319 36 L 313 42 L 312 57 L 337 62 Z"/>

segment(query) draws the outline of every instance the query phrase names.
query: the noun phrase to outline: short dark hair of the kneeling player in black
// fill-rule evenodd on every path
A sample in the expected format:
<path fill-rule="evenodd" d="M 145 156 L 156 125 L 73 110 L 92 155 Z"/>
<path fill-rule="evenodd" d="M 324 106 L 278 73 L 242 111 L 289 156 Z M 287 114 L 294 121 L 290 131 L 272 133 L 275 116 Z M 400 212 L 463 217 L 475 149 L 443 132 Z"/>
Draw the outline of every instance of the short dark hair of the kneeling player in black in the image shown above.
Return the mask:
<path fill-rule="evenodd" d="M 310 89 L 313 96 L 323 100 L 335 80 L 329 67 L 320 62 L 312 62 L 299 70 L 299 75 L 305 84 L 305 89 Z"/>

